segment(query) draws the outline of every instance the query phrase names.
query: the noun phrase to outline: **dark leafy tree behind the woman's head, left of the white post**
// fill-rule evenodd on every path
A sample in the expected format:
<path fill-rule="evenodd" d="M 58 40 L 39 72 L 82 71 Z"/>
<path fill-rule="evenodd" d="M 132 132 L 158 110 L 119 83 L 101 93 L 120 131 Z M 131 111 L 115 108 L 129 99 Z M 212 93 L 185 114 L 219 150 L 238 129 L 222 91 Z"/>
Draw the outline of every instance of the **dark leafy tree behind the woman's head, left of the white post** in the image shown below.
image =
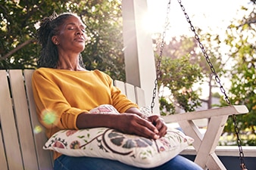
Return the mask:
<path fill-rule="evenodd" d="M 113 79 L 125 80 L 120 0 L 1 1 L 0 69 L 35 68 L 39 57 L 36 26 L 43 17 L 73 12 L 86 23 L 88 41 L 83 60 Z M 51 8 L 49 8 L 51 7 Z"/>

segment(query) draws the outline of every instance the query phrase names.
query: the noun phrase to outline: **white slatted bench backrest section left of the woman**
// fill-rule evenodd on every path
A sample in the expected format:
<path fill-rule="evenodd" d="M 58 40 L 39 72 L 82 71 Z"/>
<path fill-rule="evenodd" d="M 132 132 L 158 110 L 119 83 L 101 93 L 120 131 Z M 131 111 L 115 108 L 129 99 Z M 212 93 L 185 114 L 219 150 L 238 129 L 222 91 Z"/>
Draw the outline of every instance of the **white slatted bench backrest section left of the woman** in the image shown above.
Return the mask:
<path fill-rule="evenodd" d="M 51 153 L 42 150 L 46 137 L 36 117 L 32 74 L 33 70 L 0 70 L 2 170 L 52 169 Z"/>

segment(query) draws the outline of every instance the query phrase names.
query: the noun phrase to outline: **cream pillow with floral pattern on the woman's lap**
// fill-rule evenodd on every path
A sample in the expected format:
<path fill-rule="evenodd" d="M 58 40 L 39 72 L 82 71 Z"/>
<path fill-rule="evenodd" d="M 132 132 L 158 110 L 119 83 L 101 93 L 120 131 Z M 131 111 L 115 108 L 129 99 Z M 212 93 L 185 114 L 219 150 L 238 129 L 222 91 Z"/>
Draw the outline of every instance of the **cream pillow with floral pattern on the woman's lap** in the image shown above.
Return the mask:
<path fill-rule="evenodd" d="M 114 107 L 102 105 L 92 113 L 117 113 Z M 140 168 L 153 168 L 178 155 L 194 140 L 176 129 L 168 129 L 158 140 L 123 134 L 112 128 L 61 130 L 43 147 L 68 156 L 91 156 L 114 159 Z"/>

